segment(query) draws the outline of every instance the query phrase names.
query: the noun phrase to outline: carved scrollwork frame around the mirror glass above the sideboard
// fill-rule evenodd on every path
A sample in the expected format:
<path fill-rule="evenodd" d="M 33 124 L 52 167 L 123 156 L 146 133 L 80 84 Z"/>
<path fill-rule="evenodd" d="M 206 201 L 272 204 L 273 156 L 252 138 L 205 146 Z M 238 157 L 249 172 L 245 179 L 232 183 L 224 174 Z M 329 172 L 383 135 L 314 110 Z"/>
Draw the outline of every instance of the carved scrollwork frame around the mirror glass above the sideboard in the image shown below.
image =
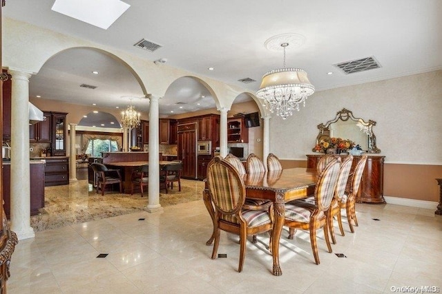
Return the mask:
<path fill-rule="evenodd" d="M 319 141 L 324 139 L 324 138 L 329 138 L 328 134 L 325 134 L 326 131 L 329 131 L 329 126 L 332 123 L 336 123 L 338 120 L 343 120 L 343 121 L 347 121 L 347 120 L 354 120 L 355 122 L 361 123 L 361 127 L 364 127 L 367 129 L 367 136 L 368 136 L 368 150 L 364 150 L 366 153 L 381 153 L 381 149 L 378 149 L 378 147 L 376 146 L 376 136 L 374 136 L 373 133 L 373 127 L 376 125 L 376 121 L 374 120 L 368 120 L 368 122 L 365 122 L 365 120 L 363 120 L 362 118 L 355 118 L 353 116 L 353 112 L 349 111 L 348 109 L 343 108 L 340 112 L 336 113 L 336 118 L 334 118 L 333 120 L 329 120 L 327 121 L 327 123 L 323 124 L 320 123 L 318 125 L 318 129 L 319 129 L 319 134 L 316 137 L 316 144 L 319 144 Z M 350 140 L 352 138 L 349 138 Z M 312 151 L 314 152 L 318 152 L 316 151 L 314 148 L 312 149 Z"/>

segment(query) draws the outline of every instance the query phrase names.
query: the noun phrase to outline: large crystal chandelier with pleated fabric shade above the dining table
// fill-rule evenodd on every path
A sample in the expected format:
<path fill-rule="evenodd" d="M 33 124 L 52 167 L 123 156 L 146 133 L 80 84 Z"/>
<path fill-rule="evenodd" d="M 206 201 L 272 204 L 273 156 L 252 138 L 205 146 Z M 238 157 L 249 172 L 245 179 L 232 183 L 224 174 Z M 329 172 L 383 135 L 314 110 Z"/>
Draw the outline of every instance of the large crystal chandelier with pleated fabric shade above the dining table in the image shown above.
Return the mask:
<path fill-rule="evenodd" d="M 305 70 L 285 67 L 285 48 L 289 43 L 284 42 L 279 45 L 284 50 L 284 68 L 272 70 L 262 76 L 262 83 L 256 96 L 264 99 L 265 105 L 271 112 L 286 119 L 293 114 L 294 109 L 299 111 L 301 103 L 305 106 L 305 100 L 315 92 L 315 87 L 311 85 Z"/>

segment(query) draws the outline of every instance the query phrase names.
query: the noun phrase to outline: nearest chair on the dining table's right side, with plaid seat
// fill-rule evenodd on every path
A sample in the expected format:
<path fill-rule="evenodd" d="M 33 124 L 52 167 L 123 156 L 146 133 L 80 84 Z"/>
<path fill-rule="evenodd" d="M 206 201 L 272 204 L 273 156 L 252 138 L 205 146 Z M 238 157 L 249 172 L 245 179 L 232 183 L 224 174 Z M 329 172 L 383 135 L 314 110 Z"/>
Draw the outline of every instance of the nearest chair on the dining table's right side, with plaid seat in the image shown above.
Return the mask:
<path fill-rule="evenodd" d="M 331 253 L 326 211 L 332 202 L 336 180 L 339 174 L 339 162 L 332 160 L 320 174 L 315 187 L 315 204 L 303 202 L 302 206 L 289 202 L 285 204 L 284 225 L 289 227 L 289 239 L 293 239 L 296 229 L 308 230 L 310 233 L 311 250 L 316 264 L 320 264 L 318 255 L 318 245 L 316 244 L 316 231 L 320 228 L 324 230 L 327 249 Z"/>

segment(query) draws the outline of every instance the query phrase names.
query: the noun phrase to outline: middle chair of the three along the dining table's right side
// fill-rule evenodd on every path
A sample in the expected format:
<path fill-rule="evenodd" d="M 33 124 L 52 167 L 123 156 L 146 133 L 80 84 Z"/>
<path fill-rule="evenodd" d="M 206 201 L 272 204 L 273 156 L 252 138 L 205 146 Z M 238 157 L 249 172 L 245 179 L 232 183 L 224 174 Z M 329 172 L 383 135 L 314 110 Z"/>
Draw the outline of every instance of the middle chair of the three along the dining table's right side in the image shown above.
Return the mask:
<path fill-rule="evenodd" d="M 338 218 L 340 235 L 345 235 L 343 229 L 343 222 L 340 214 L 340 205 L 341 205 L 341 200 L 345 194 L 345 188 L 347 187 L 350 169 L 352 169 L 352 163 L 353 163 L 352 155 L 347 156 L 345 160 L 341 163 L 338 174 L 338 182 L 336 183 L 336 189 L 334 191 L 332 203 L 330 204 L 330 209 L 327 211 L 329 232 L 332 237 L 333 244 L 336 244 L 336 236 L 334 235 L 334 226 L 333 226 L 333 220 L 335 216 Z"/>

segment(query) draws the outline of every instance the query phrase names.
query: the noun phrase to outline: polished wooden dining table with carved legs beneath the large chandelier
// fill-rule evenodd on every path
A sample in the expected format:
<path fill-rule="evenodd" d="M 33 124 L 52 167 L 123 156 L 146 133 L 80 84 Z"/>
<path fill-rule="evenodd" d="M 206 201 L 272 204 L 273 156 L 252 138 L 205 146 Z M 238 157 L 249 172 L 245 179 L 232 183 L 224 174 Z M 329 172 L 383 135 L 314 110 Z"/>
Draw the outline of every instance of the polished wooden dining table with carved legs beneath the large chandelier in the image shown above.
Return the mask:
<path fill-rule="evenodd" d="M 250 173 L 242 176 L 246 189 L 246 198 L 271 200 L 273 202 L 274 221 L 271 231 L 273 275 L 282 275 L 279 262 L 279 243 L 284 225 L 285 203 L 313 195 L 317 178 L 318 173 L 316 169 L 304 167 Z M 215 209 L 210 199 L 207 182 L 203 199 L 212 221 L 215 222 Z M 214 238 L 215 231 L 213 231 L 211 238 L 206 244 L 212 244 Z"/>

